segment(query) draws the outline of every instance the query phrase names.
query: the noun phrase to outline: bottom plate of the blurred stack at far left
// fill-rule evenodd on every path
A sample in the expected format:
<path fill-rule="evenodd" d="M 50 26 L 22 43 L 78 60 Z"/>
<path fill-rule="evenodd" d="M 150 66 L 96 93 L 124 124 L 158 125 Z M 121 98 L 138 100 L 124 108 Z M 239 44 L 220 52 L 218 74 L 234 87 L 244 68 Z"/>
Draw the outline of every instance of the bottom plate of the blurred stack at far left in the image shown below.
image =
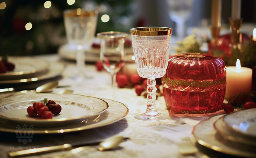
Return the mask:
<path fill-rule="evenodd" d="M 45 80 L 60 76 L 63 69 L 65 68 L 64 64 L 61 63 L 50 63 L 50 67 L 48 70 L 43 71 L 36 76 L 25 78 L 25 79 L 12 79 L 12 80 L 0 80 L 0 84 L 8 84 L 8 83 L 23 83 L 23 82 L 36 82 L 39 80 Z"/>

